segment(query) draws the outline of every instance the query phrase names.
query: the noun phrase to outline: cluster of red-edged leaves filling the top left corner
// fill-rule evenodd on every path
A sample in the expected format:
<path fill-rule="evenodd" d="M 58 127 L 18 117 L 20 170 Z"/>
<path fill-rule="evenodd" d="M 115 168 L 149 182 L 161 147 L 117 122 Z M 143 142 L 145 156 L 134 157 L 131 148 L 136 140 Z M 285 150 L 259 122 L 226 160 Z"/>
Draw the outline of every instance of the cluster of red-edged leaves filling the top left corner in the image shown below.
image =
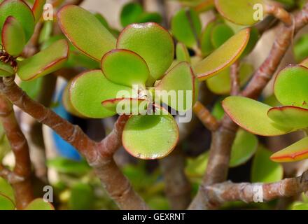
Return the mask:
<path fill-rule="evenodd" d="M 34 27 L 41 18 L 45 0 L 36 0 L 29 8 L 22 0 L 5 0 L 0 4 L 1 44 L 6 53 L 18 57 L 34 33 Z M 67 60 L 69 46 L 65 40 L 57 41 L 38 54 L 18 60 L 16 73 L 22 80 L 45 76 L 59 69 Z M 0 62 L 0 76 L 15 73 L 10 64 Z"/>

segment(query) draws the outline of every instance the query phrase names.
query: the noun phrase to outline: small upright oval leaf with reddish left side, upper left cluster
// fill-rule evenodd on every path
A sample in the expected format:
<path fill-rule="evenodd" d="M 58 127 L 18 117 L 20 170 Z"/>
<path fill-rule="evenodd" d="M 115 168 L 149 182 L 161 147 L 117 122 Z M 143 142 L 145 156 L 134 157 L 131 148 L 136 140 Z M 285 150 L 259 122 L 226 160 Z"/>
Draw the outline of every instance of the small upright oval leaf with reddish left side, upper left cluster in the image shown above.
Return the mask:
<path fill-rule="evenodd" d="M 14 57 L 20 55 L 26 44 L 25 31 L 13 16 L 9 16 L 4 22 L 1 38 L 3 48 Z"/>

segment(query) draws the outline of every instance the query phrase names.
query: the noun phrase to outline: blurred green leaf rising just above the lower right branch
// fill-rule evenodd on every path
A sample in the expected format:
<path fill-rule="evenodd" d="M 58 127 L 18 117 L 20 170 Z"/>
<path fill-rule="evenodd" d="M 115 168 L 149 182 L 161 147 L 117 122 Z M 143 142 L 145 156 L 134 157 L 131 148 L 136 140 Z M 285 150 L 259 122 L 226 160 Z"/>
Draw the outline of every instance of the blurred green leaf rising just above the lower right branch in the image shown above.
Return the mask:
<path fill-rule="evenodd" d="M 253 158 L 251 169 L 251 181 L 271 183 L 280 181 L 283 177 L 283 167 L 281 164 L 269 160 L 271 152 L 259 146 Z"/>

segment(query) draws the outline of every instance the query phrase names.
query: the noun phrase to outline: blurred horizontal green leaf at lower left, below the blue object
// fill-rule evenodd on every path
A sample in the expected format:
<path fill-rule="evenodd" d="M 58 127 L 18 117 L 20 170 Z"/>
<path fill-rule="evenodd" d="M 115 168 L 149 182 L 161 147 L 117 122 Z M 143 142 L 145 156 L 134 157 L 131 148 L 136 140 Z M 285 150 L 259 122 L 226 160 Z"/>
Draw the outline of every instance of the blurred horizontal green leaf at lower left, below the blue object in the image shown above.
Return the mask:
<path fill-rule="evenodd" d="M 91 167 L 87 165 L 87 162 L 69 160 L 62 157 L 52 158 L 47 161 L 47 166 L 54 168 L 57 172 L 63 174 L 78 174 L 84 175 L 90 172 Z"/>

